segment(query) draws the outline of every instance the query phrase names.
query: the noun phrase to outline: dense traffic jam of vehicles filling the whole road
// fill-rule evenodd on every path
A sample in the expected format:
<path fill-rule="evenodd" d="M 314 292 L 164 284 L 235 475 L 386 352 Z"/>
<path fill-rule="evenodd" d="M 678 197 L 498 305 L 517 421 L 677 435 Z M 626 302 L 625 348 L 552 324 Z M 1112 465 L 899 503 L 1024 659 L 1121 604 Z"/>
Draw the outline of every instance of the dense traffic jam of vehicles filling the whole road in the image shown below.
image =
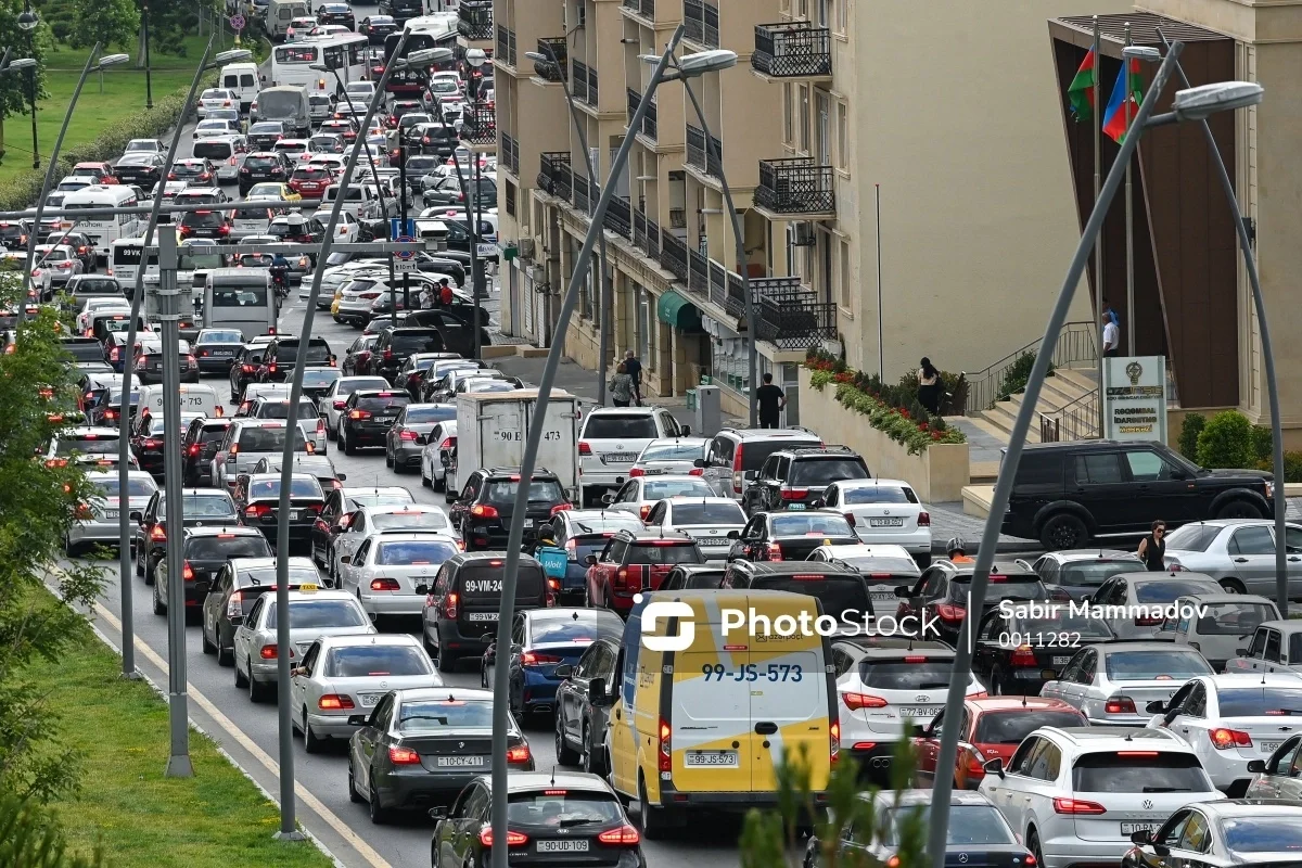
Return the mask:
<path fill-rule="evenodd" d="M 1027 446 L 1004 528 L 1040 540 L 1042 553 L 999 553 L 974 612 L 975 545 L 934 537 L 913 485 L 815 429 L 693 431 L 668 407 L 595 406 L 564 390 L 539 407 L 516 357 L 475 358 L 495 337 L 470 289 L 470 246 L 477 234 L 496 242 L 496 157 L 456 130 L 491 103 L 491 65 L 462 57 L 400 77 L 361 129 L 371 68 L 404 26 L 430 47 L 447 21 L 319 4 L 277 34 L 270 81 L 233 64 L 202 94 L 167 177 L 165 144 L 133 141 L 112 164 L 78 164 L 51 194 L 49 208 L 202 206 L 159 226 L 177 234 L 178 281 L 193 286 L 174 418 L 150 306 L 126 345 L 139 269 L 146 288 L 159 281 L 145 217 L 0 224 L 9 259 L 25 259 L 33 233 L 42 241 L 38 260 L 20 264 L 29 306 L 61 306 L 76 324 L 64 345 L 81 413 L 42 459 L 85 463 L 102 496 L 83 506 L 66 554 L 103 557 L 129 513 L 134 575 L 122 580 L 159 616 L 142 616 L 142 636 L 165 632 L 168 587 L 182 583 L 203 657 L 191 656 L 190 679 L 223 713 L 273 739 L 288 655 L 301 777 L 346 794 L 335 809 L 363 837 L 376 824 L 431 845 L 393 864 L 479 865 L 493 846 L 513 865 L 738 864 L 736 846 L 699 848 L 700 830 L 776 807 L 796 756 L 818 806 L 833 768 L 857 764 L 883 822 L 837 846 L 887 865 L 937 776 L 954 787 L 953 864 L 1302 861 L 1302 622 L 1276 604 L 1268 476 L 1206 471 L 1164 444 Z M 324 73 L 290 74 L 333 51 L 358 57 L 355 81 L 318 87 Z M 336 197 L 336 241 L 387 239 L 413 202 L 418 234 L 439 243 L 397 277 L 380 254 L 276 252 L 320 242 L 329 212 L 260 202 Z M 210 252 L 234 242 L 268 252 Z M 301 334 L 318 272 L 322 316 Z M 21 314 L 0 312 L 5 345 Z M 303 397 L 290 406 L 298 373 Z M 525 479 L 530 424 L 543 437 Z M 286 444 L 292 561 L 279 612 Z M 165 518 L 168 449 L 184 474 L 181 527 Z M 1073 493 L 1109 466 L 1116 493 Z M 1195 496 L 1128 491 L 1150 479 L 1187 480 Z M 1062 491 L 1047 496 L 1046 480 Z M 277 643 L 283 618 L 289 647 Z M 949 721 L 965 638 L 973 671 Z M 488 822 L 499 666 L 510 685 L 505 845 Z M 941 768 L 948 726 L 958 756 Z M 913 789 L 879 793 L 901 743 Z M 820 852 L 809 839 L 805 864 Z"/>

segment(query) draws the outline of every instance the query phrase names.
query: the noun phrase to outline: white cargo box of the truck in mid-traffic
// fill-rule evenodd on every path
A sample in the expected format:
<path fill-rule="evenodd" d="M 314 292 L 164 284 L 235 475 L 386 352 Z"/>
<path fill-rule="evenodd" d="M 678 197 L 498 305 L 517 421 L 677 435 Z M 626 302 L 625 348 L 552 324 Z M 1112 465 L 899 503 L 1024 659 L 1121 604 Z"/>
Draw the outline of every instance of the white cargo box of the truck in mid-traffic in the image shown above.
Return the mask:
<path fill-rule="evenodd" d="M 457 455 L 448 467 L 449 496 L 479 467 L 518 467 L 538 407 L 538 389 L 480 392 L 457 396 Z M 572 501 L 578 497 L 578 429 L 582 403 L 568 392 L 553 390 L 547 427 L 538 446 L 536 467 L 556 474 Z M 458 467 L 466 471 L 457 472 Z"/>

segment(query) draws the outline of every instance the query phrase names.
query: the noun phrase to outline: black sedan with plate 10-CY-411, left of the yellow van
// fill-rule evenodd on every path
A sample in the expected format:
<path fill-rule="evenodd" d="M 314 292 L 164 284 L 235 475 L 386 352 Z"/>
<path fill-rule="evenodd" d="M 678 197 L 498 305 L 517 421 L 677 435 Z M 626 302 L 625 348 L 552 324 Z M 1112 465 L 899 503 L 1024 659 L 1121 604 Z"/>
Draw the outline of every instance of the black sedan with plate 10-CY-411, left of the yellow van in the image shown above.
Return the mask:
<path fill-rule="evenodd" d="M 452 799 L 461 806 L 457 793 L 487 786 L 479 781 L 492 763 L 492 694 L 483 690 L 439 687 L 385 694 L 370 714 L 349 717 L 358 727 L 348 743 L 349 800 L 366 802 L 376 825 L 404 808 L 427 808 Z M 513 780 L 534 768 L 529 742 L 510 718 L 506 764 Z M 488 802 L 478 804 L 487 809 Z M 457 837 L 462 847 L 470 834 Z M 435 846 L 431 852 L 441 850 Z"/>

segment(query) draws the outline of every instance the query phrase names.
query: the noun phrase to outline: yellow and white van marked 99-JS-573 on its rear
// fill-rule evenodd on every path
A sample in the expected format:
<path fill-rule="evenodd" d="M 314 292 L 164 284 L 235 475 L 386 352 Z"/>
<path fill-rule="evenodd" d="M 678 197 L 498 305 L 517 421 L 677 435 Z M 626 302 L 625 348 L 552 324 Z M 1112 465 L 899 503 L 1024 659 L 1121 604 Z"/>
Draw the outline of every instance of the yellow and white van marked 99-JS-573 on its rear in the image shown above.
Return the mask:
<path fill-rule="evenodd" d="M 737 626 L 751 614 L 776 629 Z M 812 630 L 822 614 L 814 597 L 785 591 L 668 591 L 634 603 L 605 744 L 611 781 L 639 803 L 647 838 L 682 825 L 691 808 L 776 804 L 777 769 L 802 746 L 822 802 L 840 748 L 831 648 Z M 802 616 L 809 630 L 780 635 Z"/>

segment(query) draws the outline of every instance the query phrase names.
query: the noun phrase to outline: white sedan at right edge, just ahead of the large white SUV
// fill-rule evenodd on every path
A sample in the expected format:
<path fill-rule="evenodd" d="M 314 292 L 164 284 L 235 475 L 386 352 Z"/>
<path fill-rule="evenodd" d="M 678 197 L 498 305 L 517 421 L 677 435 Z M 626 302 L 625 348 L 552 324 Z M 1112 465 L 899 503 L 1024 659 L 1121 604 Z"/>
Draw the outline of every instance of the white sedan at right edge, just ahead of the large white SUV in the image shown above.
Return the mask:
<path fill-rule="evenodd" d="M 1268 757 L 1285 739 L 1280 717 L 1302 709 L 1302 681 L 1293 673 L 1195 675 L 1165 703 L 1148 703 L 1147 729 L 1187 742 L 1230 798 L 1251 783 L 1247 764 Z"/>

